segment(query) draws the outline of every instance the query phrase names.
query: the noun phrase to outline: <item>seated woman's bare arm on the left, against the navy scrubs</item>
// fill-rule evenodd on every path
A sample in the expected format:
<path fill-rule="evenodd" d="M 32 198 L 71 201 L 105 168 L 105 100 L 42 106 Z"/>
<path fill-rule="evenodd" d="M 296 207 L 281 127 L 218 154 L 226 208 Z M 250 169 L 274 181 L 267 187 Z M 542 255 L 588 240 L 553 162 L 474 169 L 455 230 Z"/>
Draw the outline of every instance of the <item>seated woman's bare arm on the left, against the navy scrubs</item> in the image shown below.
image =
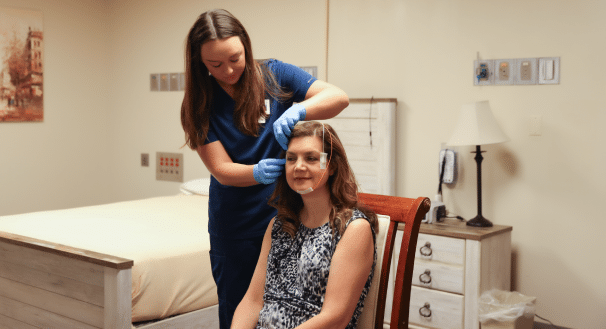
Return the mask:
<path fill-rule="evenodd" d="M 254 328 L 259 321 L 259 312 L 263 308 L 263 293 L 265 292 L 265 275 L 267 271 L 267 256 L 271 248 L 271 230 L 274 226 L 274 219 L 271 220 L 261 246 L 261 254 L 253 278 L 248 286 L 244 298 L 238 304 L 231 323 L 231 329 Z"/>

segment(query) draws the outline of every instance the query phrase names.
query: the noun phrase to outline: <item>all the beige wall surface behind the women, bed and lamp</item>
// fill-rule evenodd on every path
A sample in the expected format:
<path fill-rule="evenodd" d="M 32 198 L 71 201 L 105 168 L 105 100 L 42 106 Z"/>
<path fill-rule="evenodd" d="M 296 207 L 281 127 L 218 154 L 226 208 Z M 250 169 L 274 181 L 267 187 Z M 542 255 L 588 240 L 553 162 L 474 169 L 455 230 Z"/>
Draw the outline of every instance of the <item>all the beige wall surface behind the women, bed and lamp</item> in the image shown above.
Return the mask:
<path fill-rule="evenodd" d="M 255 5 L 252 5 L 254 3 Z M 176 193 L 139 155 L 183 152 L 185 179 L 208 176 L 184 148 L 180 92 L 152 93 L 149 74 L 183 70 L 191 24 L 214 7 L 247 27 L 255 57 L 316 65 L 350 97 L 398 99 L 398 195 L 433 197 L 440 144 L 462 104 L 489 100 L 511 141 L 484 147 L 484 215 L 513 226 L 513 288 L 572 328 L 606 325 L 602 126 L 606 1 L 42 1 L 45 122 L 0 125 L 0 215 Z M 472 83 L 473 60 L 561 57 L 555 86 Z M 529 136 L 531 115 L 542 136 Z M 460 147 L 448 209 L 476 214 L 476 165 Z M 10 160 L 10 161 L 7 161 Z M 153 159 L 152 159 L 153 160 Z M 16 161 L 16 162 L 15 162 Z"/>

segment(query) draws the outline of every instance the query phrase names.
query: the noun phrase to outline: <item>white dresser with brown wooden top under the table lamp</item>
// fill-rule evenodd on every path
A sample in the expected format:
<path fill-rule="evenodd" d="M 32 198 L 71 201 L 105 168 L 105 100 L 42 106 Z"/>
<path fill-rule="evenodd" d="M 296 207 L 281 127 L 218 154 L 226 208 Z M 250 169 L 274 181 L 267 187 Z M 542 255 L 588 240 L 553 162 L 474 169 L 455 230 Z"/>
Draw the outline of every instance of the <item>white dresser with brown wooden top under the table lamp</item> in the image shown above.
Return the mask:
<path fill-rule="evenodd" d="M 480 294 L 510 290 L 511 231 L 511 226 L 476 228 L 458 220 L 421 224 L 409 327 L 478 329 Z M 385 321 L 389 323 L 389 316 Z"/>

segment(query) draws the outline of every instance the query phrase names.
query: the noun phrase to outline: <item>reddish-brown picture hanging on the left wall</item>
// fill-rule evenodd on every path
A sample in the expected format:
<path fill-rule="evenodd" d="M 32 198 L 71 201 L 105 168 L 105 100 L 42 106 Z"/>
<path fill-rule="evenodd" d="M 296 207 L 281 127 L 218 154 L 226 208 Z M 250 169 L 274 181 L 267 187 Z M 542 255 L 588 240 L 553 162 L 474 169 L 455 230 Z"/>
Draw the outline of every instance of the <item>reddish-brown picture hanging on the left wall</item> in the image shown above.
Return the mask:
<path fill-rule="evenodd" d="M 0 7 L 0 122 L 43 121 L 42 12 Z"/>

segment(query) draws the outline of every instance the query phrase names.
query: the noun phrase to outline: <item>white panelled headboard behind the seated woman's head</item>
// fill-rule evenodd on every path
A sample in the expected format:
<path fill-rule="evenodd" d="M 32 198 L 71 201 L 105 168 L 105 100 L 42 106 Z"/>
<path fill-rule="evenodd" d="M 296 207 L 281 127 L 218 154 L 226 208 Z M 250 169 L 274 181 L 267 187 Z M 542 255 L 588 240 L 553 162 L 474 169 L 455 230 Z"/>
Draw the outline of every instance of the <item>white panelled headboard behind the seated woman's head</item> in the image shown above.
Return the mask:
<path fill-rule="evenodd" d="M 364 193 L 396 195 L 396 105 L 395 98 L 353 98 L 323 120 L 337 131 Z"/>

